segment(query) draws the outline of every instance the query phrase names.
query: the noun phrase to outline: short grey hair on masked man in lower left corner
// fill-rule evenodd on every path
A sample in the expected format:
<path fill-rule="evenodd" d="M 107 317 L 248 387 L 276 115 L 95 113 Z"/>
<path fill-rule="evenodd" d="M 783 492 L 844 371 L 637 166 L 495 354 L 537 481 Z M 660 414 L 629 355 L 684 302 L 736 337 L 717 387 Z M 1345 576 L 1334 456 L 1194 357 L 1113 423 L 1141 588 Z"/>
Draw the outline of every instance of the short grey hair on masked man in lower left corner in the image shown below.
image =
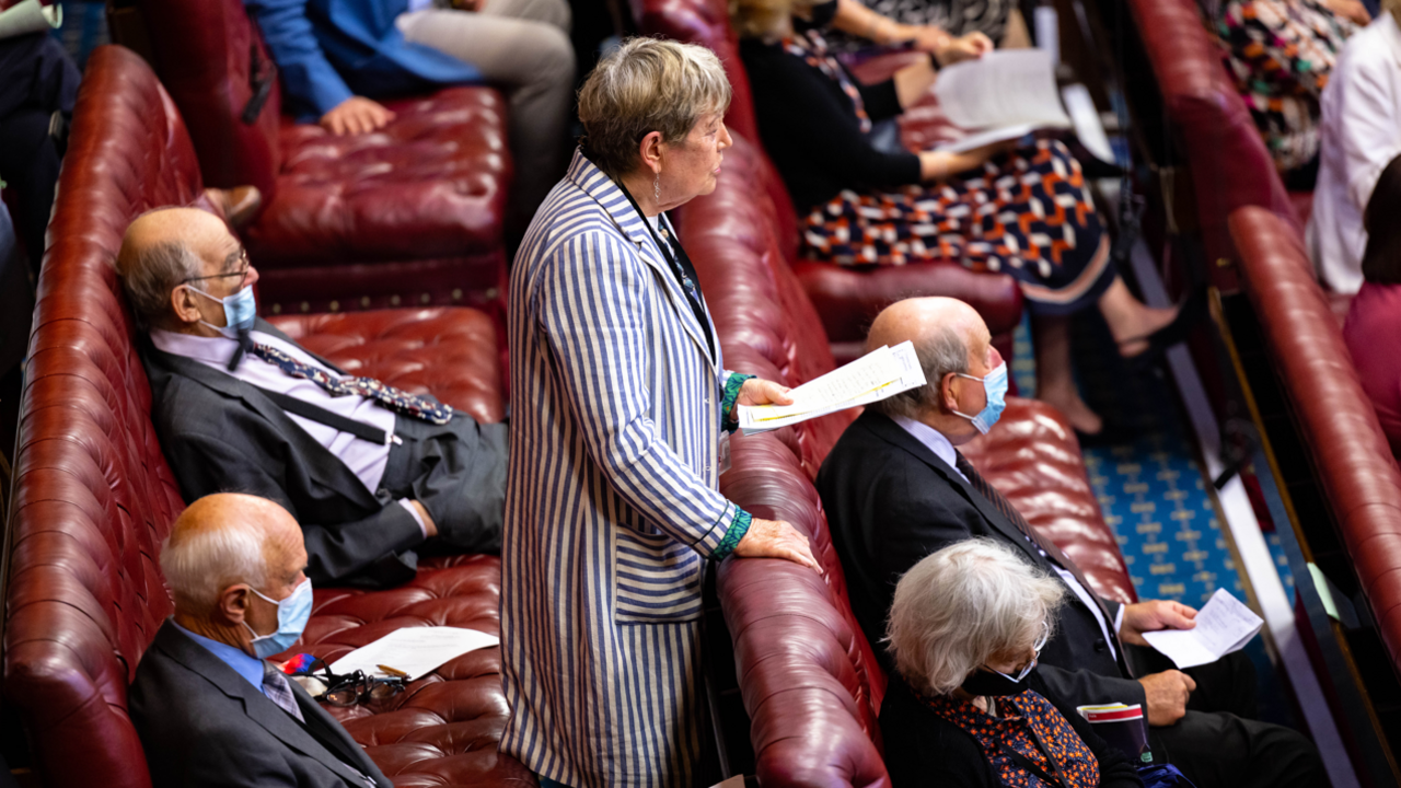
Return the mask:
<path fill-rule="evenodd" d="M 161 545 L 161 572 L 175 595 L 177 610 L 207 613 L 234 583 L 263 587 L 268 582 L 263 540 L 241 524 L 182 536 L 179 543 L 167 538 Z"/>

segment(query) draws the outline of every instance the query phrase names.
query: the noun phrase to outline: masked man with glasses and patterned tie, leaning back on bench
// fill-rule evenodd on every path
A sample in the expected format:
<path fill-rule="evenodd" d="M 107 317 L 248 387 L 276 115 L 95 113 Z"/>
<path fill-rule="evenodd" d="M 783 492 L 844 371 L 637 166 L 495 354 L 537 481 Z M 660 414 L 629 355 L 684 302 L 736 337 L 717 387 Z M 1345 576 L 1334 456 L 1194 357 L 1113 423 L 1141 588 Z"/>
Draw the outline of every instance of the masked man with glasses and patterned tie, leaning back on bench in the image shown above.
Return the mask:
<path fill-rule="evenodd" d="M 506 425 L 346 376 L 258 320 L 258 271 L 210 213 L 140 216 L 116 266 L 186 501 L 276 501 L 301 523 L 317 583 L 395 585 L 416 551 L 500 550 Z"/>

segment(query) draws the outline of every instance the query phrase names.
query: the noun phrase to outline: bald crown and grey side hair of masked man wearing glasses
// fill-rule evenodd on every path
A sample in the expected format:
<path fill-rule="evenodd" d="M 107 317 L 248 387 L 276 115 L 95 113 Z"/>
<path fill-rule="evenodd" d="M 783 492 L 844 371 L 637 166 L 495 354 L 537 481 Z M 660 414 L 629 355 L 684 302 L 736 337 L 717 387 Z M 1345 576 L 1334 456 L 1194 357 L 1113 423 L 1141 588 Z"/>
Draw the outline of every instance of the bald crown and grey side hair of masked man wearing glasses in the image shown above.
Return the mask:
<path fill-rule="evenodd" d="M 144 325 L 174 328 L 172 290 L 237 264 L 241 247 L 224 222 L 198 208 L 161 208 L 136 217 L 122 237 L 116 273 Z"/>

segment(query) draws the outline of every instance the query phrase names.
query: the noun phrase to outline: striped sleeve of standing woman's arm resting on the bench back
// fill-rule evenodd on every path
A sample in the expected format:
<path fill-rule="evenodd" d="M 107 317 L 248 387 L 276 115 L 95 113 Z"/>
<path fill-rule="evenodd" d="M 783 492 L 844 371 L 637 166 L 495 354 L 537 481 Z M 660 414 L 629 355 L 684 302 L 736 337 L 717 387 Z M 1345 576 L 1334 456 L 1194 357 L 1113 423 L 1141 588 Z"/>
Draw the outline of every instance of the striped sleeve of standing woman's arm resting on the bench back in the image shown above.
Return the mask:
<path fill-rule="evenodd" d="M 750 517 L 657 435 L 644 379 L 646 279 L 608 233 L 579 234 L 552 257 L 541 272 L 552 296 L 538 314 L 588 454 L 629 506 L 681 544 L 723 558 Z"/>

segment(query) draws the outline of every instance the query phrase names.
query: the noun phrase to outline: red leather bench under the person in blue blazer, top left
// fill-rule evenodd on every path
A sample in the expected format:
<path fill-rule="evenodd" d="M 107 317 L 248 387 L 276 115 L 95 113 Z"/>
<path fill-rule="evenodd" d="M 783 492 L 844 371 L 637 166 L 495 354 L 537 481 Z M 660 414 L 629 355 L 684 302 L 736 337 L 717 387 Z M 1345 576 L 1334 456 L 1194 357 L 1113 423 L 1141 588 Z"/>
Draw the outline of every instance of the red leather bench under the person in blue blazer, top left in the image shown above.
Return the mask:
<path fill-rule="evenodd" d="M 388 101 L 398 116 L 387 128 L 338 137 L 282 115 L 277 73 L 242 0 L 139 7 L 205 182 L 262 189 L 244 240 L 269 314 L 455 304 L 500 317 L 511 154 L 496 90 Z M 245 123 L 258 76 L 268 98 Z"/>

